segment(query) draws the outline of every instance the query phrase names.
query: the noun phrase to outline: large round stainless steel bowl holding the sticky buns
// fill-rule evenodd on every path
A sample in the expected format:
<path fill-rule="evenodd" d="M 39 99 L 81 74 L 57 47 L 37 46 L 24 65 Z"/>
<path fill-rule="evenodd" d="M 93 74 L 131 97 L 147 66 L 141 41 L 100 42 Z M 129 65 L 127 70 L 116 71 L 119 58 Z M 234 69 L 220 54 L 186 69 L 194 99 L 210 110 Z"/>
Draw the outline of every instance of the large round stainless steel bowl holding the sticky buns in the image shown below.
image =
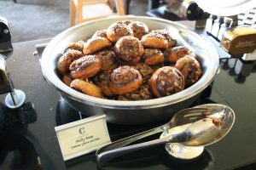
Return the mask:
<path fill-rule="evenodd" d="M 78 42 L 87 39 L 95 31 L 107 29 L 110 24 L 118 20 L 138 20 L 148 25 L 150 30 L 167 29 L 179 44 L 191 48 L 201 59 L 203 76 L 193 86 L 182 92 L 172 94 L 159 99 L 141 101 L 117 101 L 110 99 L 98 99 L 79 93 L 69 88 L 57 74 L 56 62 L 69 42 Z M 105 114 L 108 122 L 119 124 L 143 124 L 158 122 L 172 117 L 172 115 L 188 107 L 198 98 L 201 91 L 212 82 L 218 71 L 218 53 L 206 38 L 190 31 L 185 26 L 169 20 L 161 20 L 151 17 L 113 17 L 103 20 L 86 22 L 61 32 L 53 38 L 41 58 L 41 66 L 44 77 L 52 84 L 61 96 L 78 111 L 88 116 Z"/>

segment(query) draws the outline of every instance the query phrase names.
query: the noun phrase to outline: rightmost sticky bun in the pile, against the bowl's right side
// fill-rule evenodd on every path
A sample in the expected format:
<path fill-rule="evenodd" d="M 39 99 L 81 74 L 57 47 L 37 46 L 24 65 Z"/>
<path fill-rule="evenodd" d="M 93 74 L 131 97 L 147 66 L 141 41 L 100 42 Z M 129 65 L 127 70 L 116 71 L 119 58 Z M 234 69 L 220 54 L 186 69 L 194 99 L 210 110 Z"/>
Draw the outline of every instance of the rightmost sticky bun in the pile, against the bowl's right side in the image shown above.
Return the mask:
<path fill-rule="evenodd" d="M 201 77 L 201 66 L 193 56 L 186 55 L 177 59 L 175 67 L 183 74 L 186 87 L 192 85 Z"/>

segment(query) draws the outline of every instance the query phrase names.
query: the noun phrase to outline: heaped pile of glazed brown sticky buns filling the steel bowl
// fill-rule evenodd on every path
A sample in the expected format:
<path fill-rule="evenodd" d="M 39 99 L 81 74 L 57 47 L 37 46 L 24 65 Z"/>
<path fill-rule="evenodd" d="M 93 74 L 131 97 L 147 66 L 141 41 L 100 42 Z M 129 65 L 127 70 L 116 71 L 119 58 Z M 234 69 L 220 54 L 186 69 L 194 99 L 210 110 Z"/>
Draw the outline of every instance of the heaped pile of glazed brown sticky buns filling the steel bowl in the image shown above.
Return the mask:
<path fill-rule="evenodd" d="M 148 33 L 149 32 L 149 33 Z M 182 91 L 201 77 L 201 65 L 172 32 L 121 20 L 87 41 L 71 42 L 57 62 L 61 80 L 103 99 L 155 99 Z"/>

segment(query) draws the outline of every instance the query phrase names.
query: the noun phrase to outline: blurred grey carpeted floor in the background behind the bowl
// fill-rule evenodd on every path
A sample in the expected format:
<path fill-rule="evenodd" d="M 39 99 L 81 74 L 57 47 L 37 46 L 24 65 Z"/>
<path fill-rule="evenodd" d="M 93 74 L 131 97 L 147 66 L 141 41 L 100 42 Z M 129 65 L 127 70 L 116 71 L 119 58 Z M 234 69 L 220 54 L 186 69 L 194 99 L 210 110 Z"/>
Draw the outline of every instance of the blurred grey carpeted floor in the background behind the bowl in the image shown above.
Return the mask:
<path fill-rule="evenodd" d="M 129 14 L 146 15 L 148 0 L 132 0 Z M 0 0 L 12 42 L 54 37 L 69 28 L 69 0 Z"/>

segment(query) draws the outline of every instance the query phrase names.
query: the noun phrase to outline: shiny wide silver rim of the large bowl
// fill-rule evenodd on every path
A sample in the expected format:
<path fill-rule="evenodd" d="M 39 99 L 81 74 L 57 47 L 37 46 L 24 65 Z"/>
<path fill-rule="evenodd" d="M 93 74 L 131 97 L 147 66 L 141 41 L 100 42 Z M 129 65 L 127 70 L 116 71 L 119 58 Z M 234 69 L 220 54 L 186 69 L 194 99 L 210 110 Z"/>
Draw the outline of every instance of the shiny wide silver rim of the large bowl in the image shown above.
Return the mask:
<path fill-rule="evenodd" d="M 81 29 L 84 26 L 90 26 L 92 24 L 95 24 L 97 22 L 101 22 L 104 20 L 113 20 L 113 19 L 118 19 L 118 20 L 136 20 L 136 19 L 141 19 L 141 20 L 155 20 L 155 21 L 160 21 L 164 22 L 166 24 L 171 24 L 172 26 L 178 26 L 180 28 L 185 29 L 186 31 L 189 31 L 189 33 L 193 34 L 193 36 L 201 38 L 201 40 L 206 41 L 206 44 L 208 46 L 208 52 L 212 56 L 212 63 L 211 65 L 211 70 L 207 69 L 209 75 L 204 74 L 198 82 L 195 82 L 192 86 L 189 88 L 185 88 L 183 91 L 177 93 L 177 94 L 172 94 L 166 97 L 161 97 L 157 99 L 147 99 L 147 100 L 138 100 L 138 101 L 119 101 L 119 100 L 112 100 L 112 99 L 99 99 L 93 96 L 89 96 L 86 94 L 82 94 L 79 91 L 74 90 L 73 88 L 69 88 L 64 82 L 61 81 L 61 79 L 55 74 L 54 71 L 49 69 L 49 58 L 51 57 L 51 52 L 55 49 L 55 46 L 57 45 L 58 42 L 61 41 L 62 38 L 65 38 L 67 34 L 71 31 L 75 31 L 76 29 Z M 218 72 L 218 52 L 216 48 L 212 45 L 212 42 L 207 40 L 206 37 L 200 36 L 194 31 L 191 31 L 188 27 L 183 26 L 179 23 L 175 23 L 171 20 L 164 20 L 164 19 L 159 19 L 159 18 L 153 18 L 153 17 L 147 17 L 147 16 L 112 16 L 109 18 L 104 18 L 104 19 L 99 19 L 99 20 L 92 20 L 88 21 L 85 23 L 82 23 L 77 26 L 73 26 L 71 28 L 68 28 L 66 31 L 62 31 L 60 34 L 58 34 L 56 37 L 54 37 L 44 48 L 44 52 L 42 54 L 42 57 L 40 59 L 40 65 L 42 69 L 42 73 L 51 85 L 53 85 L 57 91 L 59 91 L 61 94 L 66 95 L 68 98 L 74 99 L 79 101 L 80 103 L 83 103 L 85 105 L 95 105 L 99 107 L 104 107 L 104 108 L 114 108 L 114 109 L 150 109 L 150 108 L 155 108 L 155 107 L 161 107 L 165 105 L 172 105 L 176 104 L 178 102 L 181 102 L 183 100 L 192 98 L 196 94 L 200 94 L 201 91 L 213 81 L 215 75 Z"/>

